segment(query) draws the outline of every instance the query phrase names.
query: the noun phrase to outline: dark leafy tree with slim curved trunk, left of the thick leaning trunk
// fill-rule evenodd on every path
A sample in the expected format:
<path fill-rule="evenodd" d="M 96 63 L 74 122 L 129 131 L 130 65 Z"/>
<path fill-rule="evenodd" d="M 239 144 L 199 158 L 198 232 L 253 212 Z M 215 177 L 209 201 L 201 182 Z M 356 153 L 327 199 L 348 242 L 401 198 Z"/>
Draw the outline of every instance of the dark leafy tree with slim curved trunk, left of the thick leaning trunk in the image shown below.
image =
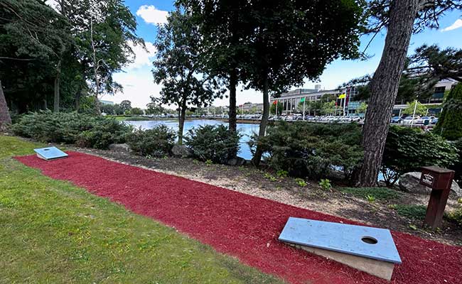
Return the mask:
<path fill-rule="evenodd" d="M 281 92 L 308 77 L 316 80 L 336 58 L 355 58 L 362 18 L 362 1 L 251 1 L 254 34 L 249 43 L 245 77 L 263 94 L 259 139 L 269 116 L 269 92 Z M 342 44 L 338 44 L 342 43 Z M 259 165 L 263 149 L 257 143 L 252 158 Z"/>

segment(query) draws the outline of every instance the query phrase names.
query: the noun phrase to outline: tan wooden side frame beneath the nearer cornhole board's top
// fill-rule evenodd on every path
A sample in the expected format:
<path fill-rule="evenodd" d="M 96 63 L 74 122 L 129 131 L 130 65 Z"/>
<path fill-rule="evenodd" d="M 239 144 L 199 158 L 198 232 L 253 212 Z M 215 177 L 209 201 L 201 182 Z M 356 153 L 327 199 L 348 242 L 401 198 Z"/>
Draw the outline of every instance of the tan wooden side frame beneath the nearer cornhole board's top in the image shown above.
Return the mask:
<path fill-rule="evenodd" d="M 391 262 L 377 261 L 372 258 L 353 256 L 352 254 L 338 253 L 337 251 L 328 251 L 326 249 L 318 249 L 311 246 L 300 246 L 298 244 L 289 245 L 294 246 L 297 249 L 303 249 L 304 251 L 314 253 L 318 256 L 323 256 L 333 261 L 343 263 L 346 266 L 356 268 L 359 271 L 364 271 L 365 273 L 369 273 L 389 281 L 392 279 L 394 263 Z"/>

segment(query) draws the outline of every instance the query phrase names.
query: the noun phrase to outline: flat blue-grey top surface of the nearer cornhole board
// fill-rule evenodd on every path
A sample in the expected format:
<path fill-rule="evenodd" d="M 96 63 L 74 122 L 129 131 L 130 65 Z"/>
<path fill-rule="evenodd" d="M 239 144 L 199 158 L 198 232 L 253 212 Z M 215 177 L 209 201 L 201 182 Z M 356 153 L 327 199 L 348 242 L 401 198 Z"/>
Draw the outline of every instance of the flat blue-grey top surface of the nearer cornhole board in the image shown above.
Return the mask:
<path fill-rule="evenodd" d="M 401 263 L 388 229 L 289 217 L 280 241 Z M 375 244 L 373 244 L 377 241 Z"/>

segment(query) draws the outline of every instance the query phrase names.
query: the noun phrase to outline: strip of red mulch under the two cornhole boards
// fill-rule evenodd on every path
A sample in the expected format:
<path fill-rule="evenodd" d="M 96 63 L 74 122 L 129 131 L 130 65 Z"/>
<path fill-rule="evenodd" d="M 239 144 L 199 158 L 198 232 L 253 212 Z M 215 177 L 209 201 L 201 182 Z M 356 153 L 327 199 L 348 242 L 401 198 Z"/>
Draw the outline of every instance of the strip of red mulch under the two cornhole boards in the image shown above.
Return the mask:
<path fill-rule="evenodd" d="M 77 152 L 61 160 L 17 157 L 44 175 L 69 180 L 137 214 L 174 226 L 188 236 L 236 256 L 290 283 L 387 283 L 277 240 L 289 216 L 358 224 L 348 219 L 245 195 Z M 392 283 L 462 283 L 462 248 L 392 232 L 402 265 Z"/>

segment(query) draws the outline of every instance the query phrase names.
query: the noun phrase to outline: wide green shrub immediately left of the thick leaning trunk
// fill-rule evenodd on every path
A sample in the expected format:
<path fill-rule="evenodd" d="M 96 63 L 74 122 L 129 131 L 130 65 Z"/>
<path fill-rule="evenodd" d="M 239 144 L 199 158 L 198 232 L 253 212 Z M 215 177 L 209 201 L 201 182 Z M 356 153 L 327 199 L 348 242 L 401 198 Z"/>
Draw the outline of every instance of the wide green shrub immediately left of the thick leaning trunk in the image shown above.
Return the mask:
<path fill-rule="evenodd" d="M 249 141 L 252 151 L 259 143 L 267 163 L 276 170 L 286 170 L 289 175 L 318 179 L 328 175 L 333 168 L 343 170 L 350 178 L 360 165 L 360 128 L 356 124 L 306 124 L 284 121 L 269 126 L 267 136 Z"/>

